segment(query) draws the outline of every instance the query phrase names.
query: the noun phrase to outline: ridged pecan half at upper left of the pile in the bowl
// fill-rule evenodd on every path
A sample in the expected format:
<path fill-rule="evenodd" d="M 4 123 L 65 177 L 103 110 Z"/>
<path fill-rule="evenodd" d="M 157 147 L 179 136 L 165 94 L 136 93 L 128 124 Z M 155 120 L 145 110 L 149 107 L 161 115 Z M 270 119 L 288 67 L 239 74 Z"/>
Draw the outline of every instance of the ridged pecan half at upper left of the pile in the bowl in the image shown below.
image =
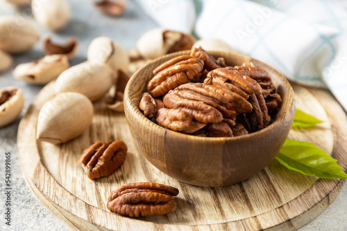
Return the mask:
<path fill-rule="evenodd" d="M 158 70 L 157 70 L 158 69 Z M 176 57 L 162 64 L 147 85 L 148 92 L 154 97 L 164 95 L 170 90 L 202 75 L 203 61 L 189 55 Z"/>

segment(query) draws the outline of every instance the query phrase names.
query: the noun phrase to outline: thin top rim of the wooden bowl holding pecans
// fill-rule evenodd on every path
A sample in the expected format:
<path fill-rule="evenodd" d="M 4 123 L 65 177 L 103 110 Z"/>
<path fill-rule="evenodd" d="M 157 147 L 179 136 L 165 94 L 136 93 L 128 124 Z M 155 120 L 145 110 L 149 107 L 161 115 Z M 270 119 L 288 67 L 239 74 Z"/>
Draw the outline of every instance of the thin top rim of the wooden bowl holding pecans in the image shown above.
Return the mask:
<path fill-rule="evenodd" d="M 183 50 L 183 51 L 178 51 L 176 53 L 170 53 L 170 54 L 167 54 L 167 55 L 160 56 L 160 57 L 158 57 L 156 59 L 153 59 L 153 60 L 151 60 L 151 62 L 149 62 L 146 65 L 144 65 L 141 68 L 139 68 L 139 70 L 137 70 L 135 73 L 133 73 L 133 75 L 130 77 L 130 80 L 128 81 L 128 84 L 126 84 L 126 89 L 124 91 L 124 99 L 125 99 L 124 107 L 127 107 L 129 113 L 132 114 L 133 117 L 136 120 L 143 121 L 144 122 L 144 126 L 147 126 L 147 125 L 150 126 L 150 127 L 153 126 L 155 129 L 158 129 L 158 133 L 160 131 L 163 131 L 163 132 L 165 132 L 165 135 L 167 135 L 167 133 L 170 133 L 170 135 L 177 136 L 178 138 L 192 139 L 192 140 L 196 140 L 196 141 L 205 140 L 206 142 L 227 142 L 227 141 L 231 142 L 231 141 L 245 140 L 245 139 L 256 138 L 256 137 L 259 137 L 259 136 L 266 135 L 266 133 L 271 132 L 271 129 L 273 127 L 279 126 L 281 120 L 283 120 L 286 117 L 286 115 L 291 111 L 291 110 L 287 110 L 287 111 L 285 111 L 285 113 L 280 113 L 280 111 L 284 110 L 284 108 L 281 106 L 280 111 L 278 111 L 278 113 L 277 113 L 276 120 L 273 123 L 271 123 L 268 127 L 265 127 L 264 129 L 261 129 L 259 131 L 255 131 L 253 133 L 248 133 L 248 134 L 243 135 L 243 136 L 201 137 L 201 136 L 192 136 L 190 134 L 180 133 L 178 131 L 173 131 L 171 129 L 164 128 L 164 127 L 160 126 L 159 124 L 156 124 L 155 122 L 152 122 L 151 120 L 149 120 L 149 118 L 146 118 L 146 116 L 144 116 L 144 114 L 140 111 L 139 107 L 130 107 L 130 105 L 131 105 L 130 101 L 134 101 L 134 100 L 130 100 L 129 99 L 128 91 L 130 91 L 129 90 L 130 86 L 133 84 L 133 82 L 135 82 L 135 76 L 138 76 L 139 73 L 141 73 L 145 68 L 147 68 L 147 66 L 149 66 L 149 65 L 151 65 L 151 64 L 153 64 L 155 62 L 158 62 L 160 59 L 165 59 L 165 58 L 169 58 L 169 57 L 170 58 L 174 58 L 174 57 L 177 57 L 179 55 L 187 55 L 187 54 L 189 55 L 189 53 L 187 53 L 188 51 L 190 52 L 190 50 Z M 292 89 L 292 87 L 289 84 L 288 80 L 282 74 L 280 74 L 278 71 L 276 71 L 276 69 L 272 68 L 268 64 L 265 64 L 264 62 L 259 61 L 258 59 L 254 59 L 253 57 L 249 57 L 249 56 L 241 54 L 241 53 L 228 52 L 228 51 L 222 51 L 222 50 L 207 50 L 207 51 L 212 56 L 214 56 L 213 53 L 220 53 L 220 54 L 222 54 L 222 53 L 227 54 L 228 53 L 229 55 L 239 55 L 239 56 L 242 56 L 242 57 L 244 57 L 246 59 L 249 59 L 249 62 L 256 62 L 256 63 L 259 63 L 259 64 L 262 64 L 262 65 L 266 66 L 266 68 L 271 69 L 271 71 L 275 72 L 276 75 L 278 77 L 280 77 L 282 82 L 285 84 L 285 88 L 289 89 L 289 93 L 288 93 L 289 97 L 287 98 L 287 104 L 291 105 L 289 108 L 294 106 L 293 105 L 294 102 L 295 102 L 294 90 Z M 278 117 L 278 115 L 280 115 L 280 117 Z"/>

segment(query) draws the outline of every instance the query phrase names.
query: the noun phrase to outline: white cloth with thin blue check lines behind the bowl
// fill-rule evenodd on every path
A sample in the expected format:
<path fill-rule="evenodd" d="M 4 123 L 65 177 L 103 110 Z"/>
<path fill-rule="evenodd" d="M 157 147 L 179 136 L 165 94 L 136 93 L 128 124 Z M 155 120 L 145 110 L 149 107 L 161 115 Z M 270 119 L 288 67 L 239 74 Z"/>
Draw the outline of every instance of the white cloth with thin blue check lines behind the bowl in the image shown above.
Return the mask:
<path fill-rule="evenodd" d="M 159 26 L 226 41 L 347 111 L 347 1 L 135 0 Z"/>

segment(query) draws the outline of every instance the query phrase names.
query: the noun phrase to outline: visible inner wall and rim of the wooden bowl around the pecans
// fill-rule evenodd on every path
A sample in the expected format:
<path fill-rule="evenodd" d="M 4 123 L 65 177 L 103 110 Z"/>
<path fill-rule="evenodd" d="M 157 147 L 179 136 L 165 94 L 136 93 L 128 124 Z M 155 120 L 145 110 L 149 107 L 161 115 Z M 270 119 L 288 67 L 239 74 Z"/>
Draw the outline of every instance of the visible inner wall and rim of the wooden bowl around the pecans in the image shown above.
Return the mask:
<path fill-rule="evenodd" d="M 158 129 L 164 129 L 166 132 L 174 133 L 174 136 L 189 136 L 191 139 L 200 140 L 201 137 L 198 136 L 191 136 L 184 133 L 179 133 L 176 131 L 171 131 L 169 129 L 165 129 L 164 127 L 159 126 L 158 124 L 155 124 L 151 122 L 148 118 L 146 118 L 143 113 L 139 110 L 139 101 L 142 98 L 142 95 L 144 92 L 146 92 L 146 86 L 149 83 L 149 81 L 154 76 L 152 71 L 156 67 L 158 67 L 163 62 L 166 62 L 169 59 L 172 59 L 173 57 L 179 56 L 179 55 L 189 55 L 190 50 L 180 51 L 178 53 L 171 53 L 169 55 L 164 55 L 162 57 L 159 57 L 158 59 L 154 59 L 152 62 L 149 62 L 149 64 L 146 64 L 146 66 L 143 66 L 140 68 L 134 75 L 130 78 L 126 90 L 125 90 L 125 99 L 126 104 L 129 106 L 128 110 L 130 113 L 135 115 L 135 117 L 138 120 L 142 120 L 145 122 L 147 126 L 156 126 Z M 283 118 L 285 118 L 285 115 L 288 113 L 287 106 L 294 103 L 294 91 L 291 88 L 289 82 L 283 77 L 278 71 L 273 69 L 271 66 L 264 64 L 263 62 L 260 62 L 257 59 L 253 59 L 252 57 L 248 57 L 246 55 L 242 55 L 239 53 L 231 53 L 231 52 L 224 52 L 224 51 L 208 51 L 213 57 L 223 57 L 226 61 L 227 66 L 241 66 L 242 64 L 251 64 L 253 63 L 255 66 L 263 68 L 266 70 L 269 75 L 271 76 L 271 80 L 273 82 L 273 85 L 276 86 L 277 93 L 282 98 L 282 104 L 278 108 L 278 112 L 274 113 L 273 115 L 276 115 L 275 121 L 273 121 L 272 124 L 269 125 L 269 127 L 266 127 L 260 131 L 256 131 L 253 133 L 249 133 L 245 136 L 237 136 L 237 137 L 230 137 L 230 138 L 212 138 L 203 137 L 204 140 L 234 140 L 234 139 L 245 139 L 249 136 L 257 136 L 258 133 L 262 133 L 266 130 L 271 129 L 271 127 L 275 126 L 276 123 L 280 122 Z"/>

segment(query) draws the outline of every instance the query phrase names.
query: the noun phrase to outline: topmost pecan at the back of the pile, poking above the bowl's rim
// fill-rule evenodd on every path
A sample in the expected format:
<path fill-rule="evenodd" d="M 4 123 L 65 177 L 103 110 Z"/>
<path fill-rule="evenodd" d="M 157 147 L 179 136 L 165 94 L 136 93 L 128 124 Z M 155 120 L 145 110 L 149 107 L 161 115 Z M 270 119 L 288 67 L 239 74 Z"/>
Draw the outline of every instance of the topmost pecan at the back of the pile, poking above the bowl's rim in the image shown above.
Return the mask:
<path fill-rule="evenodd" d="M 214 59 L 214 57 L 203 50 L 201 46 L 199 46 L 198 48 L 192 48 L 190 55 L 197 57 L 198 59 L 202 59 L 204 62 L 204 67 L 208 71 L 212 71 L 216 68 L 226 67 L 226 62 L 224 62 L 224 59 L 222 57 L 219 57 L 217 60 Z"/>

